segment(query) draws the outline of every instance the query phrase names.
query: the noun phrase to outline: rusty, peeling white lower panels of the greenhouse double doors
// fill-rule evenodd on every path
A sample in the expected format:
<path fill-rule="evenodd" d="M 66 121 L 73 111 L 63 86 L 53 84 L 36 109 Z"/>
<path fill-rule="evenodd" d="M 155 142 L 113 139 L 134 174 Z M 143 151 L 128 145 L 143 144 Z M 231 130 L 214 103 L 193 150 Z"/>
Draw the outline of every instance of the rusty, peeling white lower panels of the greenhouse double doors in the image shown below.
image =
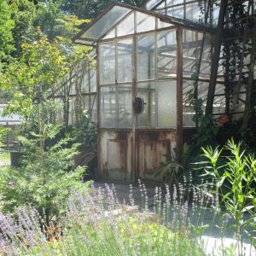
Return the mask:
<path fill-rule="evenodd" d="M 132 177 L 153 178 L 165 155 L 172 154 L 177 145 L 176 130 L 137 130 L 133 152 L 132 135 L 131 130 L 99 131 L 101 177 L 129 182 Z"/>

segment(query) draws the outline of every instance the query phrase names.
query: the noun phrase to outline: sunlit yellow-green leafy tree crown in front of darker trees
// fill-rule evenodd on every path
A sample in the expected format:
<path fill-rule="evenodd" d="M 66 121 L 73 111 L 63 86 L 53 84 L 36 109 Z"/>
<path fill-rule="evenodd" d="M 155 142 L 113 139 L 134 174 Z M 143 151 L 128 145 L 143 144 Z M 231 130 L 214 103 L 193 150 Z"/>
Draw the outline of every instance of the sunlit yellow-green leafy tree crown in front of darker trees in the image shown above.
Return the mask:
<path fill-rule="evenodd" d="M 35 98 L 44 100 L 44 93 L 53 90 L 55 84 L 69 70 L 67 58 L 61 48 L 38 30 L 38 41 L 22 45 L 22 56 L 9 64 L 3 74 L 1 87 L 9 90 L 12 100 L 6 113 L 28 116 Z"/>

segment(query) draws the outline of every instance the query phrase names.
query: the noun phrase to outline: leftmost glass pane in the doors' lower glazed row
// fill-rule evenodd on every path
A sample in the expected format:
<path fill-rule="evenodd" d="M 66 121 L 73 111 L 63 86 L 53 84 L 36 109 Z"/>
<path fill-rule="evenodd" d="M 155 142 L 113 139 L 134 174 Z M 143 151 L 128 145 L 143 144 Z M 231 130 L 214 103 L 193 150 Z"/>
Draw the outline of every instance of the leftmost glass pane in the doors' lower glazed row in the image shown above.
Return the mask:
<path fill-rule="evenodd" d="M 101 87 L 101 126 L 115 127 L 115 87 Z"/>

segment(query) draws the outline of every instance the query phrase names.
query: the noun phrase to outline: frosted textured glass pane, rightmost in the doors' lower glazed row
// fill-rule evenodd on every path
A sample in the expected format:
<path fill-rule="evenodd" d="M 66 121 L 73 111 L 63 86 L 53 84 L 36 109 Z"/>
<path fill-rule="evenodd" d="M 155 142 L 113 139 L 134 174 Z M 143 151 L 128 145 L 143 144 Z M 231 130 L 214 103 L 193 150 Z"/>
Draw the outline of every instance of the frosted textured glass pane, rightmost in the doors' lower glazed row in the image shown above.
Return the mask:
<path fill-rule="evenodd" d="M 157 83 L 158 126 L 177 125 L 177 85 L 176 80 L 159 81 Z"/>

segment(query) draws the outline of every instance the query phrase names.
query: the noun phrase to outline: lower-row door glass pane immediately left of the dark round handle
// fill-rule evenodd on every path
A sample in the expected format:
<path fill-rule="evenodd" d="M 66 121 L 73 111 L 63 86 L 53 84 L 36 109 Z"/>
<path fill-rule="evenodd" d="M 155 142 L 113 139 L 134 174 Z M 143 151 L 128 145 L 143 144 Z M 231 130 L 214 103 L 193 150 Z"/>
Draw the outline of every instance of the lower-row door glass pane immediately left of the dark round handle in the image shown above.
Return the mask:
<path fill-rule="evenodd" d="M 118 86 L 118 127 L 132 126 L 131 84 Z"/>

